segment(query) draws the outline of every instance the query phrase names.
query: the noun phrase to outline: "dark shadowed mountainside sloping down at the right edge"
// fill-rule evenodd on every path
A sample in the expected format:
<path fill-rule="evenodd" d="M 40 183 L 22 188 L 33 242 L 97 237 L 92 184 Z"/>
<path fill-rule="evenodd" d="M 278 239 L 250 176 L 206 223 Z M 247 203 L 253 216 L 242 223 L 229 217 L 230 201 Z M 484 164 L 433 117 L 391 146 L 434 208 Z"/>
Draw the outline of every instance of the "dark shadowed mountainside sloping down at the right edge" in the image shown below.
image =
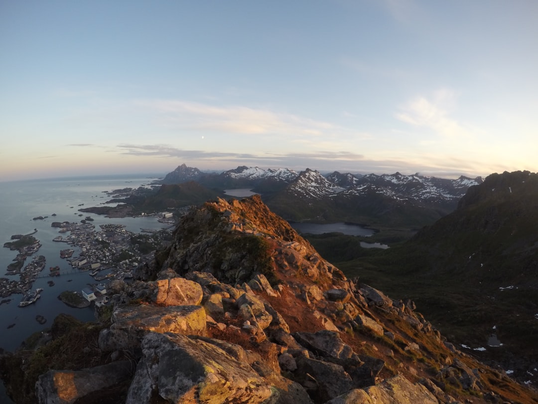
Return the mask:
<path fill-rule="evenodd" d="M 538 175 L 504 172 L 471 187 L 455 212 L 400 246 L 362 257 L 357 250 L 354 259 L 349 252 L 345 260 L 329 257 L 349 276 L 362 274 L 393 296 L 412 296 L 469 353 L 536 385 L 536 229 Z"/>

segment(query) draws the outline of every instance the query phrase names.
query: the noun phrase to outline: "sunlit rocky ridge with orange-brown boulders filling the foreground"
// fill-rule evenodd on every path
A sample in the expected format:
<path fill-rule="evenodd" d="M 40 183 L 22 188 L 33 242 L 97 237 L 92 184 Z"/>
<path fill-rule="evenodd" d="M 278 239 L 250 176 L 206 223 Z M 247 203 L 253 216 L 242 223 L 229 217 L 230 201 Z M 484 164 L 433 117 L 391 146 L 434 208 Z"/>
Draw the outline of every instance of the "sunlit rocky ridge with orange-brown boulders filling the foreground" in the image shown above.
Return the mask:
<path fill-rule="evenodd" d="M 99 323 L 57 318 L 2 357 L 17 403 L 532 403 L 413 301 L 348 279 L 258 196 L 187 214 L 109 285 Z"/>

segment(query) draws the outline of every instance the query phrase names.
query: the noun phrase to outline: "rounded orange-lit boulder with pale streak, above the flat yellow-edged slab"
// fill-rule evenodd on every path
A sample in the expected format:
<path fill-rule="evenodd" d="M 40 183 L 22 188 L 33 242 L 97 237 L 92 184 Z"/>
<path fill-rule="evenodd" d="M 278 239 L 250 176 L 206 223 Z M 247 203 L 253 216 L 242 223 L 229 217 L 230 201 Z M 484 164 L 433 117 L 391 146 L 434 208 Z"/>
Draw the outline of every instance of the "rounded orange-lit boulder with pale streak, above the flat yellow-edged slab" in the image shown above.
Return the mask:
<path fill-rule="evenodd" d="M 199 283 L 185 278 L 157 281 L 155 303 L 166 306 L 196 306 L 202 302 L 203 292 Z"/>

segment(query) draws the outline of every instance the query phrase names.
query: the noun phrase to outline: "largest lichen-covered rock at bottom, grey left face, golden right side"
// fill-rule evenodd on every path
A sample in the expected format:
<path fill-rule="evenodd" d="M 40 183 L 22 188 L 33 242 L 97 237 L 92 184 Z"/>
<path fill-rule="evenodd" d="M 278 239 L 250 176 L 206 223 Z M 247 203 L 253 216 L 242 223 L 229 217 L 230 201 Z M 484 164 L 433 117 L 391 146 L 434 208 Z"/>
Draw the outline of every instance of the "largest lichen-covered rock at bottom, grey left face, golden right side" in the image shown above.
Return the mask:
<path fill-rule="evenodd" d="M 203 340 L 150 333 L 142 349 L 127 404 L 260 403 L 272 394 L 250 366 Z"/>

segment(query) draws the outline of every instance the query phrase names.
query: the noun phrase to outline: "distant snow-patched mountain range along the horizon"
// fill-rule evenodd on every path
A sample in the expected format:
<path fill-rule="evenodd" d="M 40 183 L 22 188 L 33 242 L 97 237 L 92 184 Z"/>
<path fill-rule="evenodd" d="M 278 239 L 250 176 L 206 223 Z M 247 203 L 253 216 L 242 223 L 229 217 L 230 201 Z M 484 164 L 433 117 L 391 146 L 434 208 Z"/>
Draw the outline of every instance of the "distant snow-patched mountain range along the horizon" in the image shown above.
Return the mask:
<path fill-rule="evenodd" d="M 419 229 L 453 211 L 469 187 L 482 178 L 444 179 L 418 174 L 358 175 L 337 171 L 260 169 L 240 166 L 203 173 L 180 165 L 159 183 L 196 182 L 214 192 L 249 188 L 272 211 L 291 221 L 347 221 L 375 228 Z M 221 194 L 215 194 L 221 196 Z"/>

